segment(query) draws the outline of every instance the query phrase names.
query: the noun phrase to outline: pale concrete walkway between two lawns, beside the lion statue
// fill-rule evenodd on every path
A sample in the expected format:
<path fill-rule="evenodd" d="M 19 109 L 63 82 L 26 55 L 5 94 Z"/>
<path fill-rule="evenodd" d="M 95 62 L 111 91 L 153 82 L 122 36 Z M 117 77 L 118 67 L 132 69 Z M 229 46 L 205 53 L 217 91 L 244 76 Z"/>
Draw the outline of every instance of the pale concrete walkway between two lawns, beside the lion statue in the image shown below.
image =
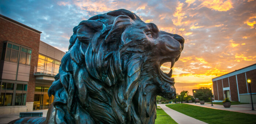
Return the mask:
<path fill-rule="evenodd" d="M 176 121 L 178 124 L 207 124 L 203 121 L 197 120 L 193 117 L 184 115 L 180 112 L 177 112 L 173 109 L 170 109 L 165 106 L 166 104 L 157 104 L 157 106 L 160 106 L 163 111 L 165 111 L 174 121 Z"/>

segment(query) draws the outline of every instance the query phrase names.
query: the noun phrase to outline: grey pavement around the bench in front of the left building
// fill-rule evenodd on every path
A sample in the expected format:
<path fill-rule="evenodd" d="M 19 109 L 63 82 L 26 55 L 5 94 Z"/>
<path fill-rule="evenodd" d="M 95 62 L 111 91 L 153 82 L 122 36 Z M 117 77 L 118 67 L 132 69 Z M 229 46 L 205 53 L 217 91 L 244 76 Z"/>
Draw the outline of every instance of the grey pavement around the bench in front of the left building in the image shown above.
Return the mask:
<path fill-rule="evenodd" d="M 48 109 L 37 110 L 33 112 L 43 112 L 43 117 L 46 117 Z M 0 124 L 7 124 L 12 120 L 19 119 L 19 113 L 0 115 Z"/>

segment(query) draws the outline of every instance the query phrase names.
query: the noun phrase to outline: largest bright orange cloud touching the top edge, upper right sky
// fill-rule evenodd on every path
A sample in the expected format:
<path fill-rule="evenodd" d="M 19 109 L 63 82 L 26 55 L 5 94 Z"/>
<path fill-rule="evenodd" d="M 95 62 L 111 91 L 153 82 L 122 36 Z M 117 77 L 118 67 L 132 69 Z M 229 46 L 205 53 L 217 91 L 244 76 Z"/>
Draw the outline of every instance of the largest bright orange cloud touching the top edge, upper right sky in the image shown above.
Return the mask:
<path fill-rule="evenodd" d="M 231 0 L 203 0 L 200 6 L 214 9 L 215 11 L 228 11 L 233 8 L 232 4 Z"/>

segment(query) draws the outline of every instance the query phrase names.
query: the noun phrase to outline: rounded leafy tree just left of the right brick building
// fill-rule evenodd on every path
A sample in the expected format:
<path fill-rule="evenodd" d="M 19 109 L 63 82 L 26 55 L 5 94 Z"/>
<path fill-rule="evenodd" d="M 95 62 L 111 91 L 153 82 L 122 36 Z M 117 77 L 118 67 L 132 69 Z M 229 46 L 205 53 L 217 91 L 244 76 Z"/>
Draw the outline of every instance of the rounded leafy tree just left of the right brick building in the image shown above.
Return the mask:
<path fill-rule="evenodd" d="M 211 90 L 207 87 L 200 87 L 196 92 L 195 96 L 199 100 L 204 100 L 204 101 L 211 101 Z"/>

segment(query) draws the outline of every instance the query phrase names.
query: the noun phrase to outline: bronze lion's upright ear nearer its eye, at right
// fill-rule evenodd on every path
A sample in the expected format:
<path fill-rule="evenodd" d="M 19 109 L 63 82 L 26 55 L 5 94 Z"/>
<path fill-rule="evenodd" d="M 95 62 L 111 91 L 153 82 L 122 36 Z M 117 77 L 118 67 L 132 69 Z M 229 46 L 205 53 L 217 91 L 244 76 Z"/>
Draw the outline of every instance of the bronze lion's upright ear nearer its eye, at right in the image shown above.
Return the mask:
<path fill-rule="evenodd" d="M 112 28 L 108 32 L 108 35 L 105 38 L 105 42 L 109 43 L 111 41 L 122 41 L 120 40 L 121 34 L 123 33 L 124 29 L 132 24 L 132 19 L 129 16 L 120 15 L 117 16 L 114 20 Z M 123 44 L 123 43 L 121 43 Z"/>

